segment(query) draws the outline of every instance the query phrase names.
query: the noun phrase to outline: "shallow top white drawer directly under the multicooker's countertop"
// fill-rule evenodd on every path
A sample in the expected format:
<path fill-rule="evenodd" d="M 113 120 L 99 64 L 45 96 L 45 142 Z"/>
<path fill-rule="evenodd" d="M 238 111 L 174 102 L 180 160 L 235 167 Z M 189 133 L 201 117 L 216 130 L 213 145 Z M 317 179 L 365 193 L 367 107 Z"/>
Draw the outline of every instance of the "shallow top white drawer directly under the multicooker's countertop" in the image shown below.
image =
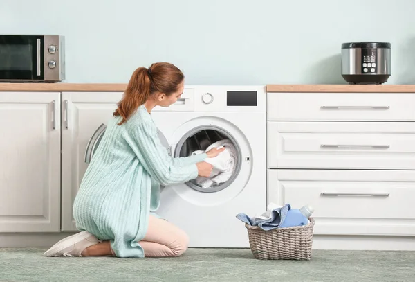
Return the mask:
<path fill-rule="evenodd" d="M 268 93 L 268 121 L 415 121 L 412 93 Z"/>

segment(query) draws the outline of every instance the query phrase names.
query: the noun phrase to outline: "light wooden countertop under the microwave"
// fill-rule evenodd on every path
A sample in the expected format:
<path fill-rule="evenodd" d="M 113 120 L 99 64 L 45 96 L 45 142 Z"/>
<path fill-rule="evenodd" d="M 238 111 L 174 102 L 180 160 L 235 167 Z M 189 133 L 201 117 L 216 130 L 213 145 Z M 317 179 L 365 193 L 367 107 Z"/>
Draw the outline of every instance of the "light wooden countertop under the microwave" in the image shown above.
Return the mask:
<path fill-rule="evenodd" d="M 0 91 L 111 91 L 123 92 L 124 83 L 0 83 Z"/>

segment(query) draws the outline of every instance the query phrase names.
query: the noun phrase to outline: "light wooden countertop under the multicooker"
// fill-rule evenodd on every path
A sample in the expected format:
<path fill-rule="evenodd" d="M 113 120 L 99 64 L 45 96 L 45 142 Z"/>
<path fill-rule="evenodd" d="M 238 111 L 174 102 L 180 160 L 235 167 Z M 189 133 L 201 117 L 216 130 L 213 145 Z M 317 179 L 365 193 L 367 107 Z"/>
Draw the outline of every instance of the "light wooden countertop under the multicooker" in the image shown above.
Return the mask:
<path fill-rule="evenodd" d="M 415 85 L 267 85 L 267 92 L 415 93 Z"/>

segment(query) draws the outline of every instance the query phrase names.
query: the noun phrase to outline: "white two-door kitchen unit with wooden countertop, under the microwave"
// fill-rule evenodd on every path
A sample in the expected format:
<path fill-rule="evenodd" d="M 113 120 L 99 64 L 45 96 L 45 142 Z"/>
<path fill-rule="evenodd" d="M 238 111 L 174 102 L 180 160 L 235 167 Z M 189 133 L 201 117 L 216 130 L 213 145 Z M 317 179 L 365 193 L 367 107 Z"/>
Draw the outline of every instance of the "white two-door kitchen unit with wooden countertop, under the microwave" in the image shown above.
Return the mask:
<path fill-rule="evenodd" d="M 76 231 L 86 143 L 124 87 L 0 84 L 0 247 L 48 246 Z"/>

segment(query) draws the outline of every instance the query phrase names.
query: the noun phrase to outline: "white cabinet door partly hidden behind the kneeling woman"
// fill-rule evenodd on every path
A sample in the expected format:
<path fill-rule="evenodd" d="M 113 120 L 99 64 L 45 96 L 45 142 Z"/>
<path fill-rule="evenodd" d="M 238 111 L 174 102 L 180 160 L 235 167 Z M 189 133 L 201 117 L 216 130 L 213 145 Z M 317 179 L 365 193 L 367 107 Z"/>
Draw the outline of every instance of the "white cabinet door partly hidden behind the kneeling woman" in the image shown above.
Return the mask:
<path fill-rule="evenodd" d="M 62 93 L 62 231 L 76 231 L 73 200 L 87 164 L 86 145 L 111 118 L 122 92 Z"/>

